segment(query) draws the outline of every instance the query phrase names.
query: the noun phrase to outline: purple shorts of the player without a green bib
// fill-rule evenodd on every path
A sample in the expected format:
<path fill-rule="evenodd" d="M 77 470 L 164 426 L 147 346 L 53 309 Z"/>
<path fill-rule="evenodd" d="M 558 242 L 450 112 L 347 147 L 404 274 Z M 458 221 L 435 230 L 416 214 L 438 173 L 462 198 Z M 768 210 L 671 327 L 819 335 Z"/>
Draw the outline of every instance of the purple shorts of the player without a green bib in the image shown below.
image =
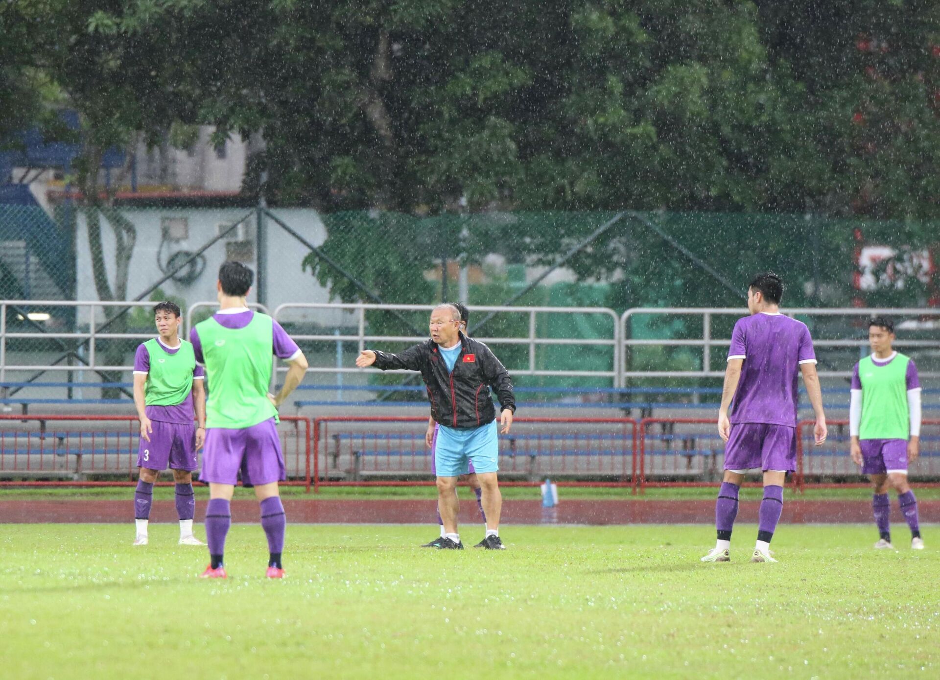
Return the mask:
<path fill-rule="evenodd" d="M 796 428 L 765 422 L 739 422 L 731 425 L 725 445 L 726 470 L 796 469 Z"/>

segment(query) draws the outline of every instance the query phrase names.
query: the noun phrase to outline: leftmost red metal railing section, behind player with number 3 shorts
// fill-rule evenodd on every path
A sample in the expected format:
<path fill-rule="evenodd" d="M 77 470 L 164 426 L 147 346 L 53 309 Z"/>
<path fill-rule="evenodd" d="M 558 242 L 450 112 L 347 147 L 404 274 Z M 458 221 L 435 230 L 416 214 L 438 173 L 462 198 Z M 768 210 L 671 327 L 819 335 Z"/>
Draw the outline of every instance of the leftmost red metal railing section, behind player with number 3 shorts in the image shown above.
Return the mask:
<path fill-rule="evenodd" d="M 281 450 L 288 484 L 309 486 L 311 421 L 280 418 Z M 122 486 L 137 473 L 140 422 L 136 416 L 0 415 L 0 474 L 62 477 L 60 480 L 0 481 L 16 486 Z M 127 476 L 124 481 L 88 481 L 84 476 Z M 164 482 L 170 483 L 170 482 Z"/>

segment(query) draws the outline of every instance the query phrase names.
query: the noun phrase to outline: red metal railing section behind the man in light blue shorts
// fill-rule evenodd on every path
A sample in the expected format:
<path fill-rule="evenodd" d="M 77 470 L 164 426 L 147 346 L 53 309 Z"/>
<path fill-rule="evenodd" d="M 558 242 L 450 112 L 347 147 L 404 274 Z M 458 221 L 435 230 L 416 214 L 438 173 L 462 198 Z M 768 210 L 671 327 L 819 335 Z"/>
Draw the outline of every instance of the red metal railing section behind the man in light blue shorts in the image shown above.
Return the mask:
<path fill-rule="evenodd" d="M 433 484 L 424 441 L 427 422 L 420 417 L 314 419 L 314 491 L 323 485 Z M 562 485 L 622 487 L 635 476 L 635 419 L 519 418 L 499 440 L 502 485 L 534 486 L 545 477 L 561 477 L 557 483 Z M 572 477 L 581 479 L 565 480 Z"/>

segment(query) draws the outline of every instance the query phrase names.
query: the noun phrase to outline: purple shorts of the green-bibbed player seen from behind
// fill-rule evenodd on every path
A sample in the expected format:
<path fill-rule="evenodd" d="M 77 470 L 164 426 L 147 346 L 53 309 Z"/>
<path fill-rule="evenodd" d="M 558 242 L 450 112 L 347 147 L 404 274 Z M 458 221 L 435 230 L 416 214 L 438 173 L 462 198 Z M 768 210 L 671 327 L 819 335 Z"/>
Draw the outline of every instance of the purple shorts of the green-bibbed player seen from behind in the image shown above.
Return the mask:
<path fill-rule="evenodd" d="M 273 418 L 236 430 L 212 427 L 206 431 L 199 481 L 234 485 L 239 472 L 245 486 L 288 478 Z"/>

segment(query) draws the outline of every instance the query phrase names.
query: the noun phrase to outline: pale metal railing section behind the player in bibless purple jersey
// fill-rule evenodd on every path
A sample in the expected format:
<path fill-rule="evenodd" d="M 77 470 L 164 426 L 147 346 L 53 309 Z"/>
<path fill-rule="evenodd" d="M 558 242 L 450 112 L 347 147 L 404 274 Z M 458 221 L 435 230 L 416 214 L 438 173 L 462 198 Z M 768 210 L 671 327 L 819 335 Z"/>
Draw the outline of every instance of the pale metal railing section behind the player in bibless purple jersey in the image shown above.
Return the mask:
<path fill-rule="evenodd" d="M 940 309 L 931 308 L 782 308 L 782 313 L 792 317 L 848 317 L 864 322 L 865 319 L 876 315 L 884 315 L 894 320 L 895 331 L 899 333 L 897 346 L 903 350 L 907 347 L 933 348 L 940 350 L 940 334 L 934 333 L 931 340 L 912 340 L 904 337 L 903 329 L 899 328 L 901 320 L 920 320 L 924 317 L 933 317 L 940 320 Z M 713 349 L 729 347 L 731 340 L 729 338 L 714 338 L 712 334 L 713 318 L 715 316 L 747 316 L 747 308 L 650 308 L 639 307 L 627 309 L 620 317 L 620 337 L 622 338 L 624 365 L 620 367 L 620 386 L 626 384 L 628 378 L 717 378 L 724 375 L 724 370 L 711 370 Z M 676 340 L 670 338 L 655 339 L 636 339 L 632 337 L 631 322 L 640 315 L 661 315 L 661 316 L 697 316 L 701 318 L 702 335 L 701 338 Z M 936 322 L 934 321 L 934 324 Z M 810 327 L 810 329 L 812 329 Z M 630 349 L 642 346 L 659 347 L 700 347 L 702 350 L 701 370 L 699 371 L 634 371 L 627 362 L 630 360 Z M 864 328 L 856 338 L 820 338 L 813 336 L 813 346 L 817 349 L 817 356 L 820 356 L 820 349 L 831 347 L 857 347 L 859 354 L 869 346 L 868 328 Z M 826 371 L 820 369 L 821 377 L 850 377 L 852 375 L 852 364 L 846 365 L 844 370 Z M 940 377 L 940 372 L 920 372 L 922 377 L 935 378 Z"/>

